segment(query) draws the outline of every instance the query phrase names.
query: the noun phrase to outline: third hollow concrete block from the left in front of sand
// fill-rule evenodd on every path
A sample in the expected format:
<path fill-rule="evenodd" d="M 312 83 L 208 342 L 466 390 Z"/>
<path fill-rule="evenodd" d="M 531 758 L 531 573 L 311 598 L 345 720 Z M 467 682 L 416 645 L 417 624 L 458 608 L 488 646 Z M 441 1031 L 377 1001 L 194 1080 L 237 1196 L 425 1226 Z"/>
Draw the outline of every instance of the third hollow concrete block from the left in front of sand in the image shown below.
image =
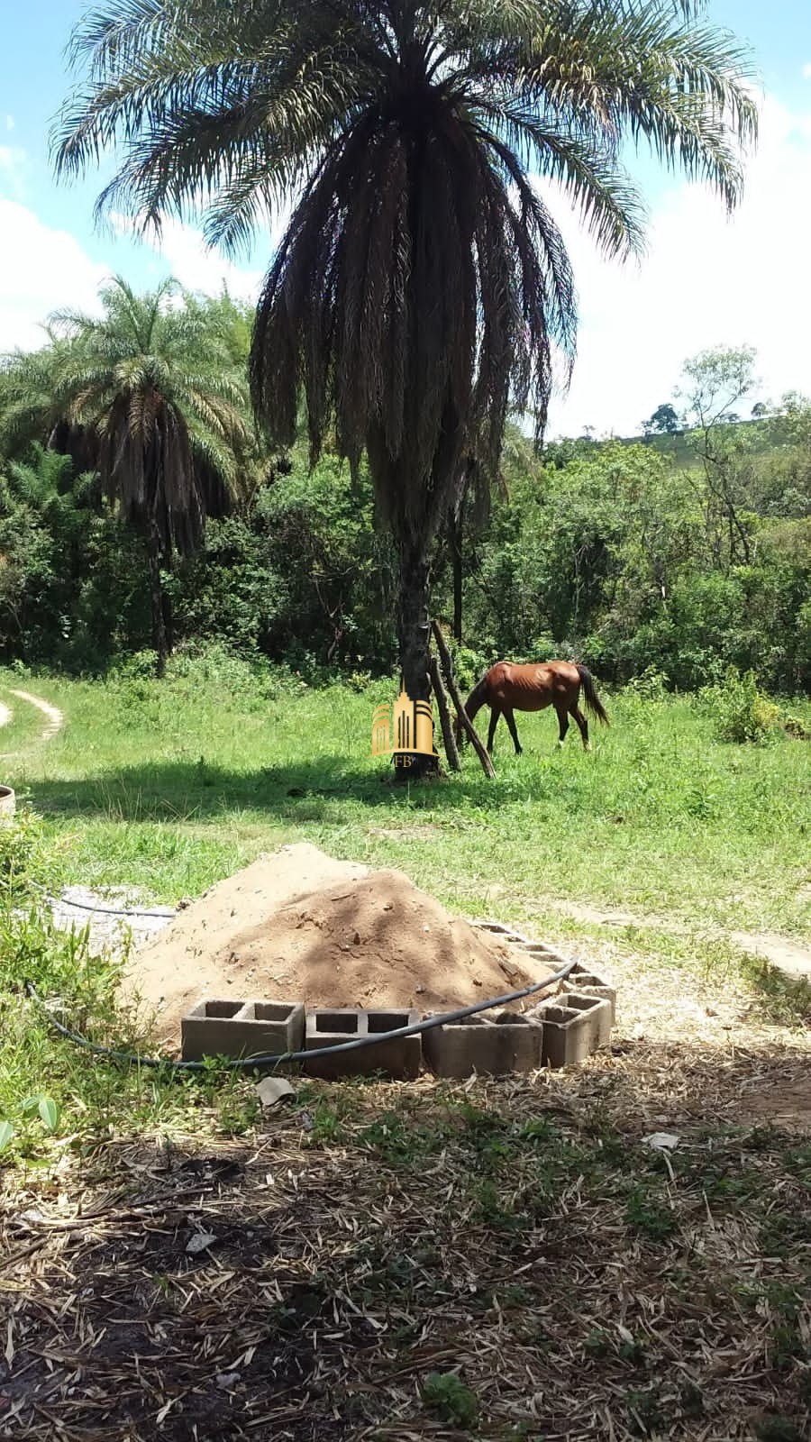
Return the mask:
<path fill-rule="evenodd" d="M 423 1032 L 423 1053 L 437 1077 L 460 1080 L 473 1071 L 505 1076 L 541 1066 L 543 1027 L 532 1017 L 496 1012 L 494 1021 L 468 1017 Z"/>

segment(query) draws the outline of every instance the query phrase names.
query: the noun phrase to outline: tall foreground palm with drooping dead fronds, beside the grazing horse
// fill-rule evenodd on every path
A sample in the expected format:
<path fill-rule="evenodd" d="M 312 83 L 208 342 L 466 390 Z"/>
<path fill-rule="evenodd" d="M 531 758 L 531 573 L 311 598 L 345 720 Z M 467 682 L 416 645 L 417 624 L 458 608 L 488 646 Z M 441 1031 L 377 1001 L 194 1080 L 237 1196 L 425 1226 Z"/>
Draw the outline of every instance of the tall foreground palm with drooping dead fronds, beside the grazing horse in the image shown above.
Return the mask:
<path fill-rule="evenodd" d="M 98 200 L 144 226 L 205 212 L 240 247 L 294 211 L 261 291 L 254 408 L 310 453 L 365 450 L 400 554 L 406 686 L 429 695 L 431 544 L 463 457 L 498 472 L 511 407 L 543 433 L 574 356 L 573 277 L 530 170 L 608 255 L 642 247 L 626 138 L 733 208 L 756 112 L 742 49 L 693 0 L 117 0 L 74 36 L 88 72 L 58 172 L 114 143 Z"/>

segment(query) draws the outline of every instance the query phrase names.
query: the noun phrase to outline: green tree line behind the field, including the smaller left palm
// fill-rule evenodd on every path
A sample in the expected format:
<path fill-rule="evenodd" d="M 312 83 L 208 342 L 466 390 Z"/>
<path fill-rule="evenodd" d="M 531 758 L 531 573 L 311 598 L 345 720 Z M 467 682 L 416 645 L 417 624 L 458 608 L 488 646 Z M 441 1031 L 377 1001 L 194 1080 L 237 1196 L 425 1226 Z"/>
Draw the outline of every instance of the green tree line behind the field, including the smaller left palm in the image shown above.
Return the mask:
<path fill-rule="evenodd" d="M 368 464 L 354 472 L 332 435 L 315 469 L 306 437 L 268 447 L 250 330 L 228 296 L 115 283 L 98 317 L 53 317 L 45 346 L 6 362 L 6 662 L 100 673 L 150 650 L 162 668 L 173 645 L 216 640 L 313 681 L 397 666 L 397 548 Z M 509 423 L 495 490 L 470 461 L 433 552 L 433 614 L 466 673 L 573 656 L 619 682 L 655 668 L 696 688 L 735 665 L 773 691 L 808 686 L 811 405 L 789 395 L 729 424 L 740 386 L 755 388 L 753 353 L 706 352 L 685 366 L 678 437 L 537 454 Z M 107 483 L 100 410 L 124 461 Z M 140 469 L 143 428 L 162 486 Z"/>

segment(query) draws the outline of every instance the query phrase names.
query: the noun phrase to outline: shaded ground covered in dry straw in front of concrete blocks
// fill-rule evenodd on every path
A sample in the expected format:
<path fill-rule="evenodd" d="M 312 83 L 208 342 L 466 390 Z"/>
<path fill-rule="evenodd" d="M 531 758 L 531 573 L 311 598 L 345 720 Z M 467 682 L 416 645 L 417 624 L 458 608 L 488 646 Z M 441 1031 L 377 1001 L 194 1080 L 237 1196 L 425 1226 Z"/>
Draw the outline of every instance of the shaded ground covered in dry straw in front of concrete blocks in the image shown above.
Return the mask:
<path fill-rule="evenodd" d="M 810 1436 L 808 1034 L 659 981 L 577 1071 L 309 1083 L 240 1142 L 201 1106 L 9 1174 L 0 1436 Z"/>

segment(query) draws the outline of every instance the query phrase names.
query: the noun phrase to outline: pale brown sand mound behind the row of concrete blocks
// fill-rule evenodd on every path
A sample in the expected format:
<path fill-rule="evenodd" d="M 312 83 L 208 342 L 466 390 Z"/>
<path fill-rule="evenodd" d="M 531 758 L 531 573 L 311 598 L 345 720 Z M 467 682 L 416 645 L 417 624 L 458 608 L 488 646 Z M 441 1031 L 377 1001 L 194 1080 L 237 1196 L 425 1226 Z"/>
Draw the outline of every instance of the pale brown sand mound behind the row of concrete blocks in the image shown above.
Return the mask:
<path fill-rule="evenodd" d="M 124 991 L 176 1044 L 202 996 L 449 1011 L 525 986 L 508 943 L 452 920 L 401 871 L 283 846 L 180 911 L 128 965 Z"/>

